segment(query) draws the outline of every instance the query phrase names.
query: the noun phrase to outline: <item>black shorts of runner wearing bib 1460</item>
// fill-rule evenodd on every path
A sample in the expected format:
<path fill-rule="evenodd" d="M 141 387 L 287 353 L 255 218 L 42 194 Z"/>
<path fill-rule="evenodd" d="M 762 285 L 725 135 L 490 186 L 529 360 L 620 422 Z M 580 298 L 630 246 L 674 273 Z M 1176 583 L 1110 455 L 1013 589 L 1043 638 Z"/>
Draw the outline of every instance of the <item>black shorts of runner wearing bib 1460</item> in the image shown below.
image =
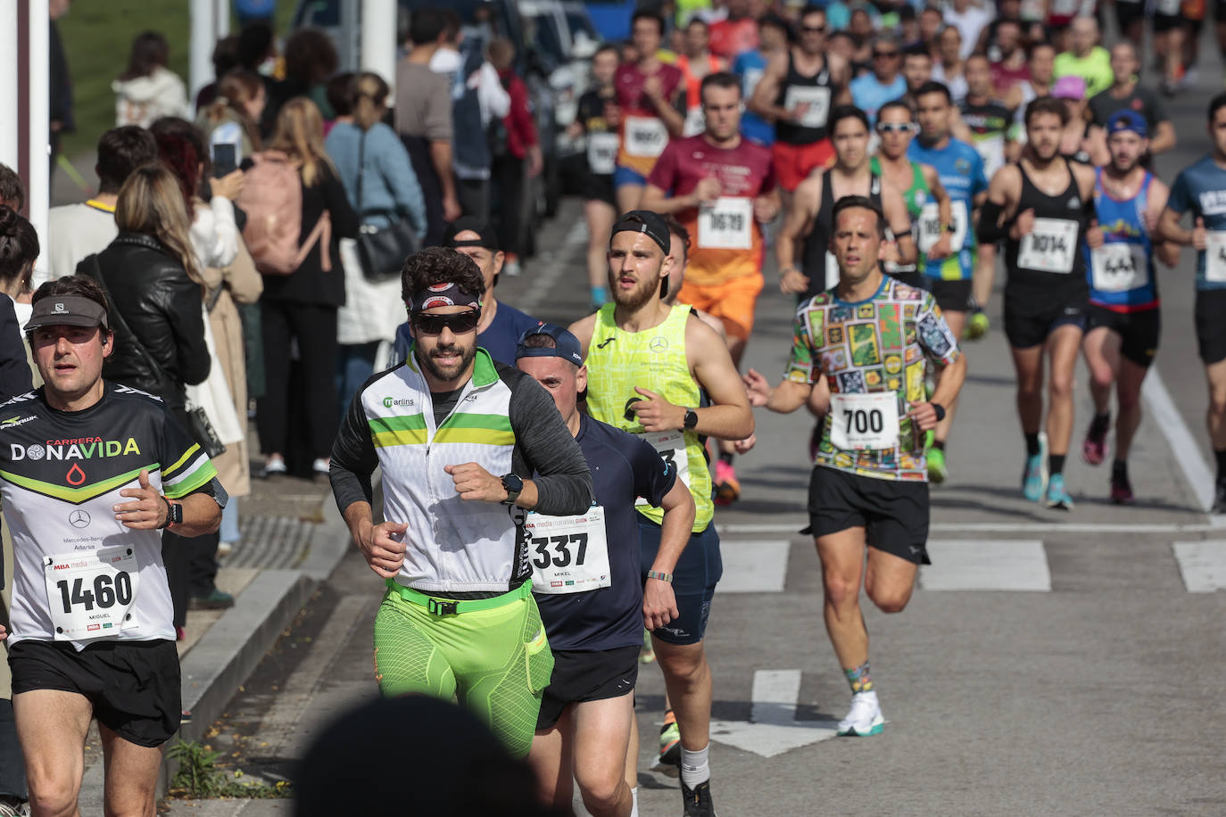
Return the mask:
<path fill-rule="evenodd" d="M 98 723 L 130 744 L 156 747 L 183 718 L 173 641 L 104 641 L 80 653 L 66 641 L 22 641 L 9 650 L 12 693 L 85 696 Z"/>

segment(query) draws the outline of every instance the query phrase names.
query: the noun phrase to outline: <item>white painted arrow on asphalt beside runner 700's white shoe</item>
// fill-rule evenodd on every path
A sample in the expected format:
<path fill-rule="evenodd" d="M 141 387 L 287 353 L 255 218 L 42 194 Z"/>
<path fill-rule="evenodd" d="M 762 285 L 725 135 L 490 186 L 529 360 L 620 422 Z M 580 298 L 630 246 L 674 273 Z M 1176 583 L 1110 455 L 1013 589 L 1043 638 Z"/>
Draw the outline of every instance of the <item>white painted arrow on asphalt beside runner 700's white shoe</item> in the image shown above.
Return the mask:
<path fill-rule="evenodd" d="M 754 670 L 750 720 L 712 720 L 711 740 L 775 757 L 801 746 L 830 740 L 835 720 L 797 720 L 801 670 Z"/>

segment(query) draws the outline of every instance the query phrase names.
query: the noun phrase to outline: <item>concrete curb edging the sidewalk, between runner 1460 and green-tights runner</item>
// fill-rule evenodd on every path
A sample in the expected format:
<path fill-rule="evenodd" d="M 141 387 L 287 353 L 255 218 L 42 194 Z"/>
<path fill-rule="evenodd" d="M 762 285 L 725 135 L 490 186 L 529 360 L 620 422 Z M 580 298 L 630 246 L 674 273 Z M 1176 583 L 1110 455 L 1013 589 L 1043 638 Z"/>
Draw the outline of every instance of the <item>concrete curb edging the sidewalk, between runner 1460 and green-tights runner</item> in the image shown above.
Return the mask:
<path fill-rule="evenodd" d="M 184 657 L 183 708 L 191 720 L 164 745 L 200 740 L 293 621 L 315 588 L 326 582 L 349 548 L 349 530 L 331 492 L 324 497 L 324 521 L 311 532 L 306 557 L 294 570 L 262 570 L 238 595 L 234 606 L 210 627 Z M 157 799 L 166 796 L 178 763 L 162 756 Z M 78 804 L 82 813 L 103 812 L 103 762 L 85 772 Z"/>

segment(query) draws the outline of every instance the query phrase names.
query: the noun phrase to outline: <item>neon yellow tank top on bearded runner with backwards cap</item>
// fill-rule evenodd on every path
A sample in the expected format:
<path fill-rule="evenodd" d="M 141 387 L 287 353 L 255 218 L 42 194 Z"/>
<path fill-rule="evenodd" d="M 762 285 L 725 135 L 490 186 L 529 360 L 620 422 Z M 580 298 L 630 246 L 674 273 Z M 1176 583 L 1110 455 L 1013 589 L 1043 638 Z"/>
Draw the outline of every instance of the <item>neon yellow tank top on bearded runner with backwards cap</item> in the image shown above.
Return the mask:
<path fill-rule="evenodd" d="M 711 472 L 702 453 L 702 445 L 693 431 L 649 434 L 626 408 L 642 397 L 635 386 L 652 391 L 673 405 L 696 408 L 701 394 L 685 361 L 685 321 L 688 306 L 674 306 L 660 326 L 641 332 L 624 332 L 613 322 L 613 304 L 596 314 L 596 328 L 587 347 L 587 413 L 602 423 L 630 434 L 642 435 L 661 456 L 671 459 L 694 495 L 696 513 L 694 533 L 711 523 L 715 506 L 711 502 Z M 660 523 L 661 508 L 640 505 L 639 511 Z"/>

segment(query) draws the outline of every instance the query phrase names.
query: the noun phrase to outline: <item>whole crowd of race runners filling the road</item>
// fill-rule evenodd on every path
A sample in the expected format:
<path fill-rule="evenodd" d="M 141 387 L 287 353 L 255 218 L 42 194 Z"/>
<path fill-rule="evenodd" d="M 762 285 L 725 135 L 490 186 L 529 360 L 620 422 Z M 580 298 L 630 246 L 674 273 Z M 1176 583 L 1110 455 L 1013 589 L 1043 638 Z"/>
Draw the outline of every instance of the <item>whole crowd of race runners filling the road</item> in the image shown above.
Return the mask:
<path fill-rule="evenodd" d="M 1025 5 L 874 11 L 863 36 L 867 6 L 836 28 L 841 4 L 754 18 L 729 0 L 679 27 L 679 53 L 652 11 L 634 13 L 628 43 L 596 51 L 577 122 L 591 314 L 563 327 L 497 301 L 499 239 L 459 219 L 405 262 L 403 361 L 363 383 L 341 420 L 332 489 L 387 584 L 374 628 L 384 695 L 457 698 L 527 758 L 547 807 L 568 813 L 577 784 L 593 816 L 625 817 L 638 815 L 634 687 L 653 661 L 668 692 L 657 764 L 677 769 L 688 817 L 715 815 L 704 637 L 722 574 L 716 507 L 739 501 L 754 409 L 803 408 L 805 533 L 851 692 L 837 731 L 881 732 L 861 588 L 901 611 L 928 563 L 928 486 L 950 479 L 961 344 L 992 331 L 1000 276 L 1018 490 L 1067 513 L 1078 360 L 1095 405 L 1080 456 L 1110 458 L 1111 501 L 1133 502 L 1159 266 L 1193 247 L 1213 511 L 1226 512 L 1226 93 L 1208 104 L 1210 153 L 1166 184 L 1155 167 L 1176 136 L 1138 81 L 1140 4 L 1116 4 L 1125 37 L 1110 53 L 1085 9 L 1052 4 L 1036 20 Z M 1171 94 L 1186 43 L 1167 11 L 1157 4 L 1154 29 Z M 742 371 L 767 284 L 797 300 L 774 386 Z M 17 521 L 10 660 L 32 801 L 71 813 L 80 692 L 105 701 L 93 710 L 118 752 L 108 799 L 120 813 L 151 796 L 151 752 L 178 714 L 170 698 L 137 710 L 145 698 L 113 682 L 130 680 L 121 661 L 156 676 L 170 660 L 137 649 L 170 637 L 152 532 L 216 528 L 226 494 L 156 403 L 101 380 L 114 344 L 101 292 L 44 284 L 25 331 L 45 387 L 6 404 L 17 419 L 5 420 L 0 490 Z M 130 447 L 89 496 L 51 490 L 39 481 L 47 429 Z M 105 563 L 38 535 L 85 507 L 115 517 Z M 98 637 L 114 654 L 82 649 Z"/>

